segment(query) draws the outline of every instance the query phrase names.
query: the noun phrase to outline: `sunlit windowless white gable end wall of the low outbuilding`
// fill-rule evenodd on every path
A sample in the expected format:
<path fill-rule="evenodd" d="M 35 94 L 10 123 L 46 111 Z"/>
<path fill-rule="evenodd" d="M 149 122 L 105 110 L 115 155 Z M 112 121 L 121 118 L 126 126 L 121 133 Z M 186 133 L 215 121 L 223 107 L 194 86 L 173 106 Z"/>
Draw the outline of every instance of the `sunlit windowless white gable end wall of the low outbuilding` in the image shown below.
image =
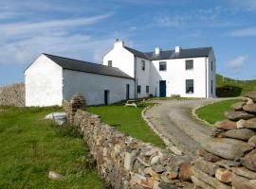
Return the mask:
<path fill-rule="evenodd" d="M 26 106 L 54 106 L 63 102 L 63 69 L 41 55 L 25 72 Z"/>

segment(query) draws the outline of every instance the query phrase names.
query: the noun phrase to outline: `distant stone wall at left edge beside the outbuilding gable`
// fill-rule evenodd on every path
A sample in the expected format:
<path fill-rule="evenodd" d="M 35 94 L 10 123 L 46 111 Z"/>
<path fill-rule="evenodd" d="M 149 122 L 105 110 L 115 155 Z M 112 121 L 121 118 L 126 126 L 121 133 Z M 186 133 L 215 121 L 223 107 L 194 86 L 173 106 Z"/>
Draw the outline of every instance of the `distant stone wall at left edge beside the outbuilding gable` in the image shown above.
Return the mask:
<path fill-rule="evenodd" d="M 25 84 L 16 83 L 0 87 L 0 106 L 25 106 Z"/>

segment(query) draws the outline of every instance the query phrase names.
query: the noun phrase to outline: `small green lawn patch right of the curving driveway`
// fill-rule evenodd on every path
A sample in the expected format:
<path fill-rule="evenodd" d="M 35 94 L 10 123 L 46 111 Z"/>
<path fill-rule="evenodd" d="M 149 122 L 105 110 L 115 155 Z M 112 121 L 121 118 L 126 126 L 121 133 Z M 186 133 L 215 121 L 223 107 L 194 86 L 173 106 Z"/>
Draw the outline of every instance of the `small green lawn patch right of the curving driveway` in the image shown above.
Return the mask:
<path fill-rule="evenodd" d="M 200 119 L 203 119 L 210 124 L 214 124 L 216 121 L 227 119 L 224 116 L 224 112 L 229 111 L 231 105 L 239 101 L 241 101 L 241 99 L 230 99 L 222 102 L 216 102 L 198 109 L 196 113 Z"/>

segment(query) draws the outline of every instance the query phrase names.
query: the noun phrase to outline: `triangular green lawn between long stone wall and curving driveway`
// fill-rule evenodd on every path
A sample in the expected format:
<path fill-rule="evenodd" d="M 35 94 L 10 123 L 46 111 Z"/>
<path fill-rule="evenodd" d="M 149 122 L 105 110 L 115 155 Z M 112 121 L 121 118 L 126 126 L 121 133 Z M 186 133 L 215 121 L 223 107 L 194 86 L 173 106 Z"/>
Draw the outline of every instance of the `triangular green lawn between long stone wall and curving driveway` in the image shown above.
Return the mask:
<path fill-rule="evenodd" d="M 147 106 L 152 105 L 147 103 Z M 103 122 L 113 126 L 119 131 L 129 134 L 132 137 L 151 143 L 155 146 L 164 147 L 163 141 L 150 129 L 141 117 L 142 110 L 146 105 L 135 107 L 124 106 L 99 106 L 91 107 L 89 112 L 101 116 Z"/>

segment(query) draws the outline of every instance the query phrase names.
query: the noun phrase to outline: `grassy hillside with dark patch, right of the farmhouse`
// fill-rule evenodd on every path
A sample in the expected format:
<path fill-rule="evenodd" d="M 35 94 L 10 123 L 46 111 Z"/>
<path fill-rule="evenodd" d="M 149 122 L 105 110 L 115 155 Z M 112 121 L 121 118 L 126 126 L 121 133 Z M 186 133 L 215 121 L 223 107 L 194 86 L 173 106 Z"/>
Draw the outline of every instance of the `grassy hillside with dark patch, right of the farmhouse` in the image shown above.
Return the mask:
<path fill-rule="evenodd" d="M 256 79 L 234 80 L 229 77 L 216 75 L 216 94 L 219 97 L 235 97 L 256 90 Z"/>

